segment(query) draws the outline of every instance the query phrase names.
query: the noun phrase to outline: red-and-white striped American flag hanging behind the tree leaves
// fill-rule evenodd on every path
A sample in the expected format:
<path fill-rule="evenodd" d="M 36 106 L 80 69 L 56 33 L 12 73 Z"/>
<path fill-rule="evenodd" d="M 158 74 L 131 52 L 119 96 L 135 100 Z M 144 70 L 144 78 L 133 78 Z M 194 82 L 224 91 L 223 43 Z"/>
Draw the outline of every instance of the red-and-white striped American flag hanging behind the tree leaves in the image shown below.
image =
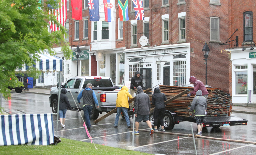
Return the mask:
<path fill-rule="evenodd" d="M 51 9 L 49 9 L 49 14 L 56 16 L 56 19 L 61 25 L 65 25 L 65 22 L 67 20 L 67 0 L 62 0 L 59 4 L 60 8 L 54 9 L 51 6 Z M 49 5 L 48 5 L 49 7 Z M 57 24 L 54 23 L 54 21 L 49 21 L 50 28 L 52 31 L 58 31 L 60 30 L 60 27 L 57 26 Z"/>

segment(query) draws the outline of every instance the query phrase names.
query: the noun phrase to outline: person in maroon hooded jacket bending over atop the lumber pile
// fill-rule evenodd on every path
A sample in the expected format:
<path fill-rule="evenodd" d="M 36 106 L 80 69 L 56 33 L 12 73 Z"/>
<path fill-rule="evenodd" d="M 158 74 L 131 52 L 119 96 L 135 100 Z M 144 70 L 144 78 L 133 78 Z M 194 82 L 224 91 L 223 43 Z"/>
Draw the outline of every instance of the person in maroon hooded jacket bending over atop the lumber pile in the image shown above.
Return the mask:
<path fill-rule="evenodd" d="M 198 90 L 201 90 L 202 91 L 202 96 L 205 97 L 206 100 L 207 100 L 209 93 L 208 93 L 207 89 L 205 88 L 205 85 L 203 84 L 203 82 L 196 79 L 194 76 L 191 76 L 189 78 L 189 82 L 194 84 L 194 90 L 191 91 L 189 94 L 187 94 L 187 97 L 190 97 L 191 95 L 196 94 L 196 92 Z"/>

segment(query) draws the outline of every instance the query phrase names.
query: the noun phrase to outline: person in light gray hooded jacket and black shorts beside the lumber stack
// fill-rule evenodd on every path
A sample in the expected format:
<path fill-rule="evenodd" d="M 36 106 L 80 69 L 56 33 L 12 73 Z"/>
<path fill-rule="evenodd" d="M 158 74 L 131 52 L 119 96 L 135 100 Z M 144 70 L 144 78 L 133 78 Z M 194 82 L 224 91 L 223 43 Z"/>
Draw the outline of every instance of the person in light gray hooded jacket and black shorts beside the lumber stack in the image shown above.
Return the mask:
<path fill-rule="evenodd" d="M 207 109 L 207 100 L 205 97 L 202 96 L 202 91 L 198 90 L 196 92 L 196 96 L 192 101 L 192 104 L 189 109 L 189 115 L 192 114 L 192 111 L 195 113 L 196 117 L 196 124 L 197 124 L 197 131 L 196 135 L 202 135 L 202 128 L 203 128 L 203 120 L 205 117 L 205 110 Z"/>

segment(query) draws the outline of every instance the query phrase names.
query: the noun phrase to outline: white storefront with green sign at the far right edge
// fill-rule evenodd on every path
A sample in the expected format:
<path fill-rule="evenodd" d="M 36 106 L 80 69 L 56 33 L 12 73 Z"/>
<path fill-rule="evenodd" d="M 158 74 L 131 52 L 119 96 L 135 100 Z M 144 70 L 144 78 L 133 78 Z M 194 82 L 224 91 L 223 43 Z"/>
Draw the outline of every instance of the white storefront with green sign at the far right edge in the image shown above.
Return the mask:
<path fill-rule="evenodd" d="M 256 103 L 256 50 L 230 49 L 232 61 L 232 103 Z M 228 79 L 227 79 L 228 80 Z"/>

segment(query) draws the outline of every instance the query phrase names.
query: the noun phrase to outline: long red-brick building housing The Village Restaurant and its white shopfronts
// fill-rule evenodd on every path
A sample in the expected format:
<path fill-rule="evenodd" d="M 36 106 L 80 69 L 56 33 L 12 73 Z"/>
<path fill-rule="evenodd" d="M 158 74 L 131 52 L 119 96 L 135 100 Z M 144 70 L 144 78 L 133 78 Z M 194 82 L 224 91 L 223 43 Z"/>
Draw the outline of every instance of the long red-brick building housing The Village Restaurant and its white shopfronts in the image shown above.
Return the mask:
<path fill-rule="evenodd" d="M 113 20 L 104 21 L 103 2 L 99 0 L 100 21 L 92 22 L 88 20 L 87 0 L 82 1 L 83 20 L 71 19 L 71 2 L 67 1 L 67 41 L 72 50 L 78 45 L 84 55 L 88 54 L 78 61 L 79 76 L 108 76 L 115 85 L 123 85 L 140 70 L 146 87 L 186 84 L 192 75 L 205 83 L 202 48 L 207 42 L 210 49 L 207 84 L 231 90 L 227 79 L 231 74 L 229 55 L 221 53 L 227 46 L 220 45 L 230 36 L 227 1 L 144 0 L 145 19 L 135 20 L 132 0 L 129 0 L 130 21 L 124 22 L 119 20 L 118 1 L 111 2 Z M 143 35 L 149 40 L 145 46 L 139 43 Z M 56 47 L 56 51 L 57 56 L 63 56 L 60 47 Z M 143 65 L 139 65 L 140 61 Z M 75 58 L 65 58 L 64 82 L 76 75 L 76 67 Z M 49 75 L 49 79 L 53 77 Z"/>

